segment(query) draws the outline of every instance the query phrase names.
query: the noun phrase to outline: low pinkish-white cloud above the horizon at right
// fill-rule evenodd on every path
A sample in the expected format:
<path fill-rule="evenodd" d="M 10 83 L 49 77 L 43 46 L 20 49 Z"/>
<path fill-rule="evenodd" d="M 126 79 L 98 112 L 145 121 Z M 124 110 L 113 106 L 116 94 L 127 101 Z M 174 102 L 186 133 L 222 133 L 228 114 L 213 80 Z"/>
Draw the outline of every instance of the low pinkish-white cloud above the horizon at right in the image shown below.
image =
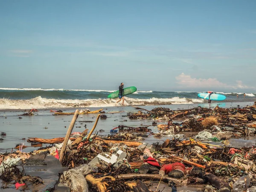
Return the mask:
<path fill-rule="evenodd" d="M 228 85 L 226 83 L 222 83 L 218 81 L 215 78 L 209 78 L 209 79 L 196 79 L 192 78 L 189 75 L 185 75 L 184 73 L 181 73 L 179 76 L 175 77 L 177 80 L 177 84 L 182 85 L 183 87 L 191 87 L 191 88 L 230 88 L 230 89 L 248 89 L 248 88 L 254 88 L 254 87 L 248 87 L 247 85 L 244 85 L 242 81 L 236 81 L 235 85 Z"/>

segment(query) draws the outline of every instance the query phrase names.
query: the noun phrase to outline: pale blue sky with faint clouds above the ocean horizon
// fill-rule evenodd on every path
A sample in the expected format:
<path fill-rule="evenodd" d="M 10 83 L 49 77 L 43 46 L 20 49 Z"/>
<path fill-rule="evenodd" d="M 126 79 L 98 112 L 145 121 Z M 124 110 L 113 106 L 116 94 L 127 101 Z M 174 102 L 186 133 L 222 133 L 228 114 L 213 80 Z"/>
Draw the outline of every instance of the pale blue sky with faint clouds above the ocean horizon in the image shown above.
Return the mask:
<path fill-rule="evenodd" d="M 255 0 L 0 0 L 0 87 L 255 91 Z"/>

